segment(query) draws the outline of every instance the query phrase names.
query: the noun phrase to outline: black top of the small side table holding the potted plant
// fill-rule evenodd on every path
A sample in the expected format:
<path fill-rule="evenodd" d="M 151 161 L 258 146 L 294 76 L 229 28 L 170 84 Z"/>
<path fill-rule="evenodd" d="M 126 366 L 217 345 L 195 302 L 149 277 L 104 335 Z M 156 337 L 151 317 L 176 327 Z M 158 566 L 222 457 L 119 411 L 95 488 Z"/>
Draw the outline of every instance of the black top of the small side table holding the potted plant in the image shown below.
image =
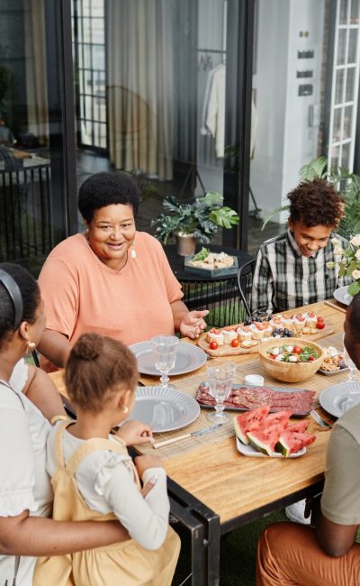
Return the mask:
<path fill-rule="evenodd" d="M 196 245 L 196 252 L 201 251 L 202 246 L 209 248 L 211 252 L 226 252 L 230 256 L 236 256 L 238 259 L 238 266 L 241 266 L 247 261 L 251 261 L 254 257 L 251 256 L 248 252 L 239 251 L 237 248 L 229 248 L 229 246 L 222 246 L 218 244 L 197 244 Z M 166 253 L 167 261 L 171 266 L 171 269 L 176 275 L 176 278 L 183 282 L 201 282 L 201 281 L 209 281 L 209 280 L 226 280 L 226 279 L 236 279 L 236 274 L 232 275 L 221 275 L 219 277 L 212 277 L 211 276 L 203 276 L 203 275 L 196 275 L 193 272 L 188 270 L 184 270 L 184 256 L 180 256 L 176 252 L 175 244 L 167 244 L 164 246 L 164 250 Z"/>

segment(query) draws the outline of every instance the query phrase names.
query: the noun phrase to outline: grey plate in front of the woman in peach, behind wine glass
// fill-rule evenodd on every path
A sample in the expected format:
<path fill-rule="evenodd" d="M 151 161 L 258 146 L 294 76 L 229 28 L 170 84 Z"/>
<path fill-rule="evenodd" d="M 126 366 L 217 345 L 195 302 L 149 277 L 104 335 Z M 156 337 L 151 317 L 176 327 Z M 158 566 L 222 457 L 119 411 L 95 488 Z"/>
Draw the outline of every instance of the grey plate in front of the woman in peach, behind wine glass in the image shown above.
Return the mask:
<path fill-rule="evenodd" d="M 160 377 L 160 373 L 155 367 L 151 342 L 133 343 L 129 347 L 136 356 L 139 372 Z M 199 346 L 195 346 L 193 343 L 180 342 L 176 351 L 175 367 L 169 372 L 169 376 L 196 371 L 207 361 L 207 358 L 207 353 L 204 353 Z"/>

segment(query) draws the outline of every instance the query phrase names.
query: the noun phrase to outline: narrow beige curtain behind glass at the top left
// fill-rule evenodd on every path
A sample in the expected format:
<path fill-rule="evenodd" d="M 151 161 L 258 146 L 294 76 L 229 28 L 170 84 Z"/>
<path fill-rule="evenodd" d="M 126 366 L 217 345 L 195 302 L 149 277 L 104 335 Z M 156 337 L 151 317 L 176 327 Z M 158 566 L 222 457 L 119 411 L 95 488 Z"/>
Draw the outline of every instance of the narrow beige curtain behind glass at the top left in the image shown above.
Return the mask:
<path fill-rule="evenodd" d="M 49 139 L 49 117 L 43 0 L 24 0 L 24 10 L 28 132 L 45 145 Z"/>

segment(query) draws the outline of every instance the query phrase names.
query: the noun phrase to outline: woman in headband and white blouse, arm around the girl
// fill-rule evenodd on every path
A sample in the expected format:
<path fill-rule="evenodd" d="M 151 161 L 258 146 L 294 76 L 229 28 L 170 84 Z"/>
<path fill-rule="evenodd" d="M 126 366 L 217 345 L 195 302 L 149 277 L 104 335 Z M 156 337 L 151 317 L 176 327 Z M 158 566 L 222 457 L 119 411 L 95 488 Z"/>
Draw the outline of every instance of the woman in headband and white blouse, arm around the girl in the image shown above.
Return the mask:
<path fill-rule="evenodd" d="M 0 584 L 31 586 L 35 556 L 70 554 L 129 536 L 119 522 L 58 522 L 45 470 L 49 422 L 11 384 L 14 367 L 39 343 L 40 290 L 22 267 L 0 264 Z M 55 586 L 55 585 L 54 585 Z"/>

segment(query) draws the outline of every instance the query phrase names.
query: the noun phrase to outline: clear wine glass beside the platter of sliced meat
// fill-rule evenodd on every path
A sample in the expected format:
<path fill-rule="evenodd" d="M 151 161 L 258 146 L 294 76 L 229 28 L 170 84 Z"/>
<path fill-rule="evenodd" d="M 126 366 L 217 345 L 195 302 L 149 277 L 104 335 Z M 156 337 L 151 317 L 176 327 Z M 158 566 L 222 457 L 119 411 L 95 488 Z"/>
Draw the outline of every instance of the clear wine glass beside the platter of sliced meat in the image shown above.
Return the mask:
<path fill-rule="evenodd" d="M 224 413 L 224 400 L 229 397 L 235 371 L 236 365 L 232 362 L 207 368 L 209 392 L 216 401 L 215 413 L 208 415 L 208 419 L 214 423 L 225 423 L 229 420 L 229 416 Z"/>

